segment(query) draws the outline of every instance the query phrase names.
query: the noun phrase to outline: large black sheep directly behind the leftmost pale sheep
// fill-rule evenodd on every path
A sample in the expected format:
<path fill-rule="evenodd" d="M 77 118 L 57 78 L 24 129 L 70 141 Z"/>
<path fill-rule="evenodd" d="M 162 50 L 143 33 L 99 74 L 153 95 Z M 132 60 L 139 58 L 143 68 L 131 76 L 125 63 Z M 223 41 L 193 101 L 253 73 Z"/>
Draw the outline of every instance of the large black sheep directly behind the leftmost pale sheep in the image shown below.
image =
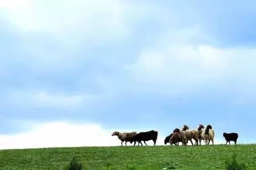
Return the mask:
<path fill-rule="evenodd" d="M 134 141 L 137 141 L 137 142 L 141 143 L 141 145 L 142 145 L 141 141 L 143 141 L 146 146 L 147 146 L 146 141 L 152 140 L 154 142 L 154 145 L 155 145 L 157 139 L 158 139 L 158 131 L 155 131 L 155 130 L 141 132 L 141 133 L 138 133 L 138 134 L 133 136 Z M 139 145 L 139 143 L 138 143 L 138 145 Z M 134 143 L 134 145 L 135 144 L 136 143 Z"/>

